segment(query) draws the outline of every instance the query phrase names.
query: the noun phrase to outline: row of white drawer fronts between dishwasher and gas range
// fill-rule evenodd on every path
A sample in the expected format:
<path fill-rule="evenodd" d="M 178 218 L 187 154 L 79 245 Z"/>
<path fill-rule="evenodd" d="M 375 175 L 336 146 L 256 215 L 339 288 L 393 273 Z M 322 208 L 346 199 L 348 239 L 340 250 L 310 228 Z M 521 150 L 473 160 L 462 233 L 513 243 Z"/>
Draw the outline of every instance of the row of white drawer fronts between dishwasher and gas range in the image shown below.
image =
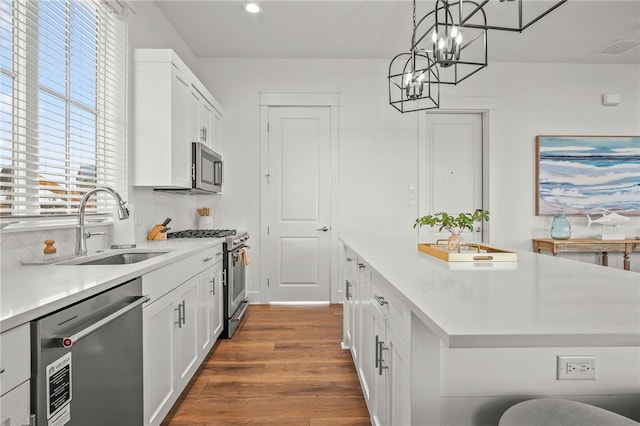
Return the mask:
<path fill-rule="evenodd" d="M 142 293 L 151 298 L 147 305 L 206 268 L 221 262 L 222 256 L 222 244 L 220 244 L 144 274 L 142 276 Z"/>

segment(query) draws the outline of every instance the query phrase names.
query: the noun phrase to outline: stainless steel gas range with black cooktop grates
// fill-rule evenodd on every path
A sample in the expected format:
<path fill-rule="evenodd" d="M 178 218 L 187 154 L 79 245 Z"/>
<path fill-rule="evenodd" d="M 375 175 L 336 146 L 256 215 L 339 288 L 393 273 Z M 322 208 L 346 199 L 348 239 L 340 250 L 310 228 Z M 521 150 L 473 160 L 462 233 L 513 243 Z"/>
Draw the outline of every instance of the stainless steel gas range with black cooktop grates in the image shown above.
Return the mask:
<path fill-rule="evenodd" d="M 249 302 L 247 301 L 246 268 L 248 265 L 248 232 L 235 229 L 187 229 L 167 233 L 167 238 L 224 238 L 222 282 L 224 299 L 223 338 L 231 338 L 240 325 Z"/>

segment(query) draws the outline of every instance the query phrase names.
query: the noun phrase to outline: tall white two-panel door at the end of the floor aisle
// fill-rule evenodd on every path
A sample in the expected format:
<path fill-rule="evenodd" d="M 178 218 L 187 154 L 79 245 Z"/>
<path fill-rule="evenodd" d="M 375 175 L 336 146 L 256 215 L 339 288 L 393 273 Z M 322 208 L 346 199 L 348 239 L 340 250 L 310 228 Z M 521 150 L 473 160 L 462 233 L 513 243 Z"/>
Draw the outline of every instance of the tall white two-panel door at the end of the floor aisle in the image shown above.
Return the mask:
<path fill-rule="evenodd" d="M 270 107 L 270 302 L 330 301 L 331 122 L 328 107 Z"/>

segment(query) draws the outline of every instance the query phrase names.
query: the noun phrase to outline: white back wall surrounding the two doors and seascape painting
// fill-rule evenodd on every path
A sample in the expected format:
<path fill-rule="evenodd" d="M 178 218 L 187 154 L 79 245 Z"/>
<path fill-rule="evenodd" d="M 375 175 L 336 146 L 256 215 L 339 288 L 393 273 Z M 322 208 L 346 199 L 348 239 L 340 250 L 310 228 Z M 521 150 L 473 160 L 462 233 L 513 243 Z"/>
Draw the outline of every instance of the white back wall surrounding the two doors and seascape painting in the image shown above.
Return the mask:
<path fill-rule="evenodd" d="M 419 212 L 408 206 L 408 182 L 417 181 L 417 114 L 388 105 L 388 61 L 200 58 L 200 78 L 225 108 L 222 154 L 225 194 L 214 209 L 222 223 L 248 229 L 259 259 L 260 91 L 339 92 L 341 232 L 415 235 Z M 631 65 L 490 63 L 451 97 L 495 98 L 489 129 L 490 242 L 531 250 L 532 237 L 549 234 L 551 217 L 535 216 L 535 136 L 640 134 L 640 67 Z M 617 107 L 601 104 L 619 93 Z M 574 236 L 591 236 L 586 219 L 570 217 Z M 624 227 L 640 234 L 640 218 Z M 563 255 L 597 261 L 595 254 Z M 622 267 L 622 255 L 610 265 Z M 632 258 L 640 271 L 640 259 Z M 249 289 L 258 291 L 257 277 Z"/>

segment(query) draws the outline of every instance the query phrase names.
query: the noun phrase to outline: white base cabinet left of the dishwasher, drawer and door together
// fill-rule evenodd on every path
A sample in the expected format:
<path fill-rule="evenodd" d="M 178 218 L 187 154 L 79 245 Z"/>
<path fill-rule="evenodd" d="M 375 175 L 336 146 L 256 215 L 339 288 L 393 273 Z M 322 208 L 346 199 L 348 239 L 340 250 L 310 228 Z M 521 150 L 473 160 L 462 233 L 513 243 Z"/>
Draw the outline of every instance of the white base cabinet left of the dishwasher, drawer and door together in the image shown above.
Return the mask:
<path fill-rule="evenodd" d="M 29 324 L 0 335 L 0 425 L 29 424 Z"/>

